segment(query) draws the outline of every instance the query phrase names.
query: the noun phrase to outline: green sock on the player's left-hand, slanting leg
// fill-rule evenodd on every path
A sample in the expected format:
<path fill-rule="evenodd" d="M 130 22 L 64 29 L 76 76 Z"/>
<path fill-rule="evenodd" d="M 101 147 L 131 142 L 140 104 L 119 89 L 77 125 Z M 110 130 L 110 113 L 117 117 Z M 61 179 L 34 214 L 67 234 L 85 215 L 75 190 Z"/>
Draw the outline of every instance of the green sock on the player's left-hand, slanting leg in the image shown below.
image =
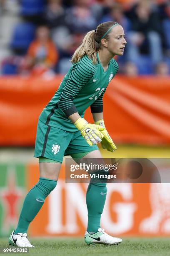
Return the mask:
<path fill-rule="evenodd" d="M 35 218 L 45 198 L 57 185 L 57 181 L 53 179 L 41 178 L 39 182 L 35 184 L 25 197 L 23 208 L 20 213 L 18 226 L 14 234 L 27 233 L 30 222 Z"/>

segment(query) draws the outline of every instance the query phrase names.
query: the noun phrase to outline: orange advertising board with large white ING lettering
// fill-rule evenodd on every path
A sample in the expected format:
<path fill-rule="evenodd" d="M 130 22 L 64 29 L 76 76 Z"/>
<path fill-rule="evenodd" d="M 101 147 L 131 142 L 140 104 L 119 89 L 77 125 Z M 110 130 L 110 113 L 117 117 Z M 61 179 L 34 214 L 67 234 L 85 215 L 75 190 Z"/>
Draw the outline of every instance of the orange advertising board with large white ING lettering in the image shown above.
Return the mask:
<path fill-rule="evenodd" d="M 38 165 L 27 166 L 28 189 L 38 180 Z M 32 221 L 32 236 L 83 236 L 87 227 L 88 184 L 65 184 L 62 164 L 57 187 Z M 112 236 L 169 236 L 170 184 L 107 184 L 101 226 Z"/>

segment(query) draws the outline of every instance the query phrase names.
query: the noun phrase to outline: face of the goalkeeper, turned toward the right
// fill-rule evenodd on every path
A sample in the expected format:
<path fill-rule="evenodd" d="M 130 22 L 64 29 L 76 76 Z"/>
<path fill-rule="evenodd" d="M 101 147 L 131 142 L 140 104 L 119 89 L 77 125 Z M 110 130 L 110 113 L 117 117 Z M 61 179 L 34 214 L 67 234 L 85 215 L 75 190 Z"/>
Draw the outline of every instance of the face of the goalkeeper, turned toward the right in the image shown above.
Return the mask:
<path fill-rule="evenodd" d="M 123 55 L 126 40 L 122 26 L 117 25 L 109 33 L 110 39 L 107 40 L 107 50 L 113 55 Z"/>

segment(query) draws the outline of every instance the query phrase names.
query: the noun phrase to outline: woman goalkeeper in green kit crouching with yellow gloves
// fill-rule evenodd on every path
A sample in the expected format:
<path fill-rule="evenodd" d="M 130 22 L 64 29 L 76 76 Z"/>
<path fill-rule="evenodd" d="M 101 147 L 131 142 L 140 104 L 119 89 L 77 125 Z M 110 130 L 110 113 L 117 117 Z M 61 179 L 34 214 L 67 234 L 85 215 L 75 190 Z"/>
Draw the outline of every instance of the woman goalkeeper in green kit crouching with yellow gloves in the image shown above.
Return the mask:
<path fill-rule="evenodd" d="M 116 149 L 105 129 L 102 97 L 117 73 L 118 65 L 113 56 L 123 55 L 125 44 L 123 28 L 116 22 L 105 22 L 87 33 L 72 56 L 72 67 L 39 118 L 35 157 L 39 157 L 40 179 L 25 197 L 18 226 L 9 238 L 10 245 L 33 247 L 26 234 L 28 226 L 55 188 L 64 155 L 80 161 L 102 158 L 97 143 L 108 151 Z M 83 118 L 89 106 L 95 124 L 89 124 Z M 90 182 L 86 195 L 88 225 L 85 242 L 88 245 L 112 245 L 122 241 L 100 228 L 106 194 L 106 183 Z"/>

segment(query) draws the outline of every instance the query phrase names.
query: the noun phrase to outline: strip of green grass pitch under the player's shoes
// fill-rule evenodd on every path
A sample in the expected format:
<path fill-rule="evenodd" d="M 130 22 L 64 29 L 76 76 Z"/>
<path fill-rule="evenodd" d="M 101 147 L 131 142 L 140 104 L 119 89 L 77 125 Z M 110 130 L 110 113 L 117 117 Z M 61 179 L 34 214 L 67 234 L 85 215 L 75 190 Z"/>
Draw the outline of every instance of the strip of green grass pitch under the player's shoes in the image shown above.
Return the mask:
<path fill-rule="evenodd" d="M 118 246 L 87 246 L 83 238 L 33 238 L 26 255 L 39 256 L 169 256 L 170 238 L 123 238 Z M 0 239 L 0 247 L 7 247 L 7 239 Z M 11 247 L 13 248 L 13 247 Z M 25 253 L 24 253 L 25 254 Z M 4 254 L 5 255 L 5 254 Z M 15 253 L 15 255 L 21 255 Z"/>

